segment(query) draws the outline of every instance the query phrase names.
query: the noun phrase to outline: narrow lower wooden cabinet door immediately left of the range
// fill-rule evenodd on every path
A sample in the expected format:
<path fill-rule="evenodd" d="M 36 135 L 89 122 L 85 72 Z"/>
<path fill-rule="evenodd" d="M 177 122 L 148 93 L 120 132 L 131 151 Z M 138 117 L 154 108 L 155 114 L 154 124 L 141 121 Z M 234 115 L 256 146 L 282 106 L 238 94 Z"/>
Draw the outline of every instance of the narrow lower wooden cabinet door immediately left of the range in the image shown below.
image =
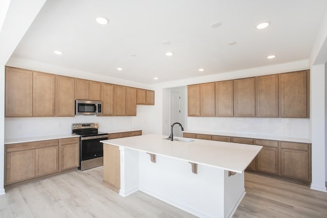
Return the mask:
<path fill-rule="evenodd" d="M 60 170 L 79 166 L 79 143 L 61 144 L 60 146 Z"/>

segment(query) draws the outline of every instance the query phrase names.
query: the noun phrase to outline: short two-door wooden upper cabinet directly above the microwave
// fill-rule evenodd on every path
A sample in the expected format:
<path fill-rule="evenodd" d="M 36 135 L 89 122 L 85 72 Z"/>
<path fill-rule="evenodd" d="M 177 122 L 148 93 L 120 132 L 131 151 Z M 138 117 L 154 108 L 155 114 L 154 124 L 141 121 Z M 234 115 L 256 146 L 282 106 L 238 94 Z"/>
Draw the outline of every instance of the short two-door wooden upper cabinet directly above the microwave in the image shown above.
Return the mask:
<path fill-rule="evenodd" d="M 100 101 L 101 83 L 75 79 L 75 99 Z"/>

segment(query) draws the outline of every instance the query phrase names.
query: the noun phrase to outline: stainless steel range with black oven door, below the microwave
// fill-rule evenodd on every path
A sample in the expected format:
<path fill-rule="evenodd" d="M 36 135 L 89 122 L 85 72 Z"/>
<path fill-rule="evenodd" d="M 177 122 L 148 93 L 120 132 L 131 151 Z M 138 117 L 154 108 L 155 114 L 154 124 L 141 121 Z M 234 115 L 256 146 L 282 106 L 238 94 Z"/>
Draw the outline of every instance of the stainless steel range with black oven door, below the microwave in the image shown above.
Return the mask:
<path fill-rule="evenodd" d="M 108 133 L 98 132 L 98 123 L 72 124 L 72 133 L 80 135 L 80 167 L 85 169 L 103 165 L 103 143 Z"/>

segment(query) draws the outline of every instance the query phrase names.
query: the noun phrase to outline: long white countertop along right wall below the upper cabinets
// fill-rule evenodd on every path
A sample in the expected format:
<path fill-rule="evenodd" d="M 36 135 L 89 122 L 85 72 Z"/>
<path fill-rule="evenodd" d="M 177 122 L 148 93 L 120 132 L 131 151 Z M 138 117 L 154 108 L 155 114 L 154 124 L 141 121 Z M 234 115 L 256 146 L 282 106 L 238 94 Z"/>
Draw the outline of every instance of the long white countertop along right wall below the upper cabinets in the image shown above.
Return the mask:
<path fill-rule="evenodd" d="M 301 143 L 311 143 L 309 138 L 295 138 L 286 136 L 274 136 L 274 135 L 258 135 L 258 134 L 245 134 L 245 133 L 229 133 L 229 132 L 208 132 L 199 130 L 187 130 L 184 133 L 197 133 L 197 134 L 207 134 L 207 135 L 222 135 L 222 136 L 232 136 L 232 137 L 244 137 L 244 138 L 256 138 L 256 139 L 267 139 L 267 140 L 277 140 L 277 141 L 292 141 Z"/>

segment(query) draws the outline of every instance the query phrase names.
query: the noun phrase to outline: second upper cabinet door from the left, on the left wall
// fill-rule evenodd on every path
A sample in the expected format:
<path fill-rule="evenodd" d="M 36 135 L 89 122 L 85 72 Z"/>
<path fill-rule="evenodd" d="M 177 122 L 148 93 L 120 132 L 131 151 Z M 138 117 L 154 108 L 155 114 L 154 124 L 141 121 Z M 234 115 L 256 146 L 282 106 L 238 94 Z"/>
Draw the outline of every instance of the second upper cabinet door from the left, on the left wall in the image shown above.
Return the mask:
<path fill-rule="evenodd" d="M 33 116 L 55 116 L 56 76 L 33 72 Z"/>

